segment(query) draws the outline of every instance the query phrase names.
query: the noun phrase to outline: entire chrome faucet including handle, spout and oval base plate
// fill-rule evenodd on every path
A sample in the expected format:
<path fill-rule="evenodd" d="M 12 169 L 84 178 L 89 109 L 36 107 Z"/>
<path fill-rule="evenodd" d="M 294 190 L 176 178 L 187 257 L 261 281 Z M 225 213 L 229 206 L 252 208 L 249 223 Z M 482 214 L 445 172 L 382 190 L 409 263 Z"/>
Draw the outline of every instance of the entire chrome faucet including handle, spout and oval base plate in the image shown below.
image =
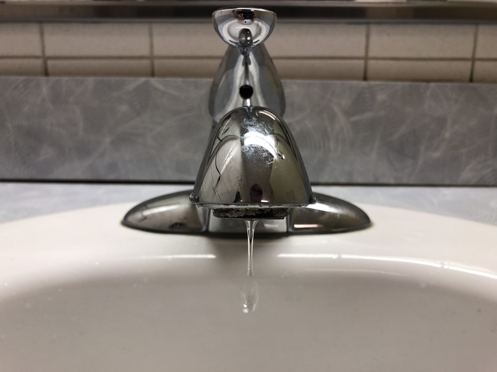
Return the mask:
<path fill-rule="evenodd" d="M 214 128 L 193 191 L 147 200 L 125 226 L 167 233 L 336 233 L 371 221 L 357 206 L 312 192 L 285 111 L 283 86 L 264 41 L 276 14 L 224 8 L 212 14 L 228 44 L 215 74 L 209 110 Z M 191 194 L 190 194 L 191 192 Z"/>

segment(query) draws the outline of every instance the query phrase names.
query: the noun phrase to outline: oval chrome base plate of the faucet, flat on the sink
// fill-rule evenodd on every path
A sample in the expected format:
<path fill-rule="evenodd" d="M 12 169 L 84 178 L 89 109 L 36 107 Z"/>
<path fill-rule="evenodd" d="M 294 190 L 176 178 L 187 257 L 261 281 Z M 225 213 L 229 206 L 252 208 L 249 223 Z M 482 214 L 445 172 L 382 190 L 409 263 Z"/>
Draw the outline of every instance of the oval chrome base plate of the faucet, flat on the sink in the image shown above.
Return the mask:
<path fill-rule="evenodd" d="M 159 196 L 132 208 L 122 224 L 138 230 L 180 234 L 247 235 L 243 220 L 218 218 L 212 210 L 190 203 L 191 190 Z M 262 219 L 257 234 L 332 234 L 362 230 L 371 225 L 359 207 L 335 197 L 315 193 L 316 203 L 292 208 L 283 219 Z"/>

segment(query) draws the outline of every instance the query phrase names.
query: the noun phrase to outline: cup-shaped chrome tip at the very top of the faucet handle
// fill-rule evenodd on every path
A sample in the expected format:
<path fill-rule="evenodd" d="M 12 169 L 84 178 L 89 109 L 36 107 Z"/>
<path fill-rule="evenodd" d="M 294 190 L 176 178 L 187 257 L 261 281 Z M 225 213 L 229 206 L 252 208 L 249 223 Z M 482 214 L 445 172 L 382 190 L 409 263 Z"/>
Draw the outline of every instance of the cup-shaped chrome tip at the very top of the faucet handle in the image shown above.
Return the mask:
<path fill-rule="evenodd" d="M 276 13 L 258 8 L 223 8 L 212 13 L 214 29 L 233 47 L 262 44 L 273 31 Z"/>

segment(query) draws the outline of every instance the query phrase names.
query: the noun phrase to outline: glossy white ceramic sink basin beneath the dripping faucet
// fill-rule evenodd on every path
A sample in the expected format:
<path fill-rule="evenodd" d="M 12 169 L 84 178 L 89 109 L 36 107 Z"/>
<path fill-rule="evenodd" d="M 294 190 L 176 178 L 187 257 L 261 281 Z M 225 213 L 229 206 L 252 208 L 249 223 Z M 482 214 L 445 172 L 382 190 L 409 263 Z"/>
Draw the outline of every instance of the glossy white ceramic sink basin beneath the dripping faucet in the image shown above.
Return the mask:
<path fill-rule="evenodd" d="M 134 204 L 0 225 L 1 372 L 497 371 L 495 226 L 363 204 L 368 230 L 256 237 L 248 279 L 245 240 Z"/>

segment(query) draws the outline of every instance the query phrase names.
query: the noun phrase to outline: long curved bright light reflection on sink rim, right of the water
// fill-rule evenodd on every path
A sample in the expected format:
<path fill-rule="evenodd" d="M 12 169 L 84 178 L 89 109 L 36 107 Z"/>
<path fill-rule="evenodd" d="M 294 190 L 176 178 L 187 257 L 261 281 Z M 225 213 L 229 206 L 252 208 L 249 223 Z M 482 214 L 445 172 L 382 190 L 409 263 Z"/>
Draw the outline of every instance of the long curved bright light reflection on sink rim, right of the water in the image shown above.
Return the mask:
<path fill-rule="evenodd" d="M 366 256 L 360 254 L 331 254 L 331 253 L 280 253 L 276 257 L 279 258 L 332 258 L 332 259 L 366 259 L 374 261 L 387 261 L 387 262 L 402 262 L 402 263 L 414 263 L 417 265 L 425 265 L 431 267 L 437 267 L 447 270 L 455 270 L 460 272 L 465 272 L 467 274 L 474 274 L 479 276 L 484 276 L 486 278 L 497 279 L 497 274 L 489 273 L 485 271 L 464 268 L 460 266 L 447 265 L 443 262 L 436 263 L 432 261 L 423 261 L 412 258 L 403 257 L 387 257 L 387 256 Z"/>

